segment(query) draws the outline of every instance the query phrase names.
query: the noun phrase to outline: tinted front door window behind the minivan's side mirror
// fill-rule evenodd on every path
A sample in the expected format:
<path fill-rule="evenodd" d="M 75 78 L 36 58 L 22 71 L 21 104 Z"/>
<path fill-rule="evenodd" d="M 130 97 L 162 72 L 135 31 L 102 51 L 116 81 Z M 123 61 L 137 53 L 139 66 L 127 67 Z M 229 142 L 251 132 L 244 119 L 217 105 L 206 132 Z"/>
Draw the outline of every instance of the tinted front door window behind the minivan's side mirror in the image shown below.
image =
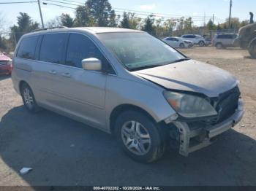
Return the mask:
<path fill-rule="evenodd" d="M 108 65 L 108 61 L 91 39 L 82 34 L 70 34 L 66 65 L 82 68 L 81 62 L 86 58 L 98 58 L 103 67 Z"/>

